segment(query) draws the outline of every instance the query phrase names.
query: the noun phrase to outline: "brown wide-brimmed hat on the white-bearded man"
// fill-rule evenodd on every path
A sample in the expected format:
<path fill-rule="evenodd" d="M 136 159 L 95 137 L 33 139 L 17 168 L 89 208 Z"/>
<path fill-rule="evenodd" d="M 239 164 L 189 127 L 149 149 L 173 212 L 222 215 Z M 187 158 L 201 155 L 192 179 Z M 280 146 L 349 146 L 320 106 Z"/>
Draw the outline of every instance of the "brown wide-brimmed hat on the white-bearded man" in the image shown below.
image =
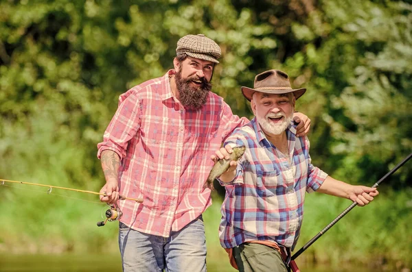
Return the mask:
<path fill-rule="evenodd" d="M 289 77 L 286 73 L 279 70 L 269 70 L 255 76 L 253 88 L 240 88 L 244 97 L 251 101 L 253 92 L 266 92 L 280 95 L 282 93 L 293 92 L 295 99 L 298 99 L 306 92 L 306 88 L 293 89 L 290 86 Z"/>

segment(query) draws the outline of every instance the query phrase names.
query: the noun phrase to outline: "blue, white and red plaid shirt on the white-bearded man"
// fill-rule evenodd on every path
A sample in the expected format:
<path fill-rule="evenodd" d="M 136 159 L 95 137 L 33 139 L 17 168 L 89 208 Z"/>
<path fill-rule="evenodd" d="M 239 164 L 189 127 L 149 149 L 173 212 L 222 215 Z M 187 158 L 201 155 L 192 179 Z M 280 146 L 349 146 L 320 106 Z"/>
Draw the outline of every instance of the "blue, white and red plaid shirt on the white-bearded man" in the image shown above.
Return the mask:
<path fill-rule="evenodd" d="M 225 145 L 246 146 L 235 179 L 226 184 L 219 227 L 222 247 L 251 240 L 270 240 L 295 247 L 304 213 L 305 192 L 317 190 L 328 176 L 310 163 L 309 140 L 286 129 L 288 158 L 265 137 L 253 119 L 236 129 Z M 221 182 L 222 185 L 225 185 Z"/>

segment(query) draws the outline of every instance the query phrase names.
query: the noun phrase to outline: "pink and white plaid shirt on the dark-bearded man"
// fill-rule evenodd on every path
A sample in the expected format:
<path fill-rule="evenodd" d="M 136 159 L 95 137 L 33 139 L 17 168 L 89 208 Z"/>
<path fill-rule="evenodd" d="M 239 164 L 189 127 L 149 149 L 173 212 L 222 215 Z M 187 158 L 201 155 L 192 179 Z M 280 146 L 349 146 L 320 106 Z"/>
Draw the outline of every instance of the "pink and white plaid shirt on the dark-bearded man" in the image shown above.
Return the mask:
<path fill-rule="evenodd" d="M 119 106 L 98 144 L 122 160 L 120 194 L 143 203 L 118 201 L 122 223 L 146 234 L 168 237 L 211 205 L 203 184 L 214 162 L 211 154 L 233 129 L 247 123 L 233 115 L 222 97 L 209 93 L 201 110 L 185 110 L 163 77 L 135 86 Z"/>

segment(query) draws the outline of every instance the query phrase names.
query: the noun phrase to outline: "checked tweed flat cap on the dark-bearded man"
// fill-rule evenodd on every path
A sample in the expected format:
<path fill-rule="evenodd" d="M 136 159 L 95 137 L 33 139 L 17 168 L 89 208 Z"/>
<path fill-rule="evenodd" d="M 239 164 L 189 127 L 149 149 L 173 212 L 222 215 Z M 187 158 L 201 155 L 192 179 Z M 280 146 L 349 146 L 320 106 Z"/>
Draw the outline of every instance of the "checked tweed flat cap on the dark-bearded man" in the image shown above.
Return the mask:
<path fill-rule="evenodd" d="M 192 58 L 219 63 L 218 58 L 220 58 L 222 51 L 214 40 L 203 34 L 197 34 L 183 36 L 177 42 L 176 55 L 184 53 Z"/>

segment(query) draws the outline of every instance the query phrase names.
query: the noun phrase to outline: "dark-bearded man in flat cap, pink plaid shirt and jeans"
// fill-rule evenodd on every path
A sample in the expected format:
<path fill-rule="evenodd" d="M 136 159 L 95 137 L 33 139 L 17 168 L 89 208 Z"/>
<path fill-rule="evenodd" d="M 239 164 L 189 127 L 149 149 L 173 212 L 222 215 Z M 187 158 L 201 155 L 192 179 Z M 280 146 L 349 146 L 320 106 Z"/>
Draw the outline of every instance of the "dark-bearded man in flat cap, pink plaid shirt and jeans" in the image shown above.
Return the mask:
<path fill-rule="evenodd" d="M 206 271 L 208 158 L 233 129 L 249 122 L 210 91 L 219 57 L 220 47 L 205 35 L 181 38 L 174 69 L 120 95 L 98 144 L 106 179 L 100 199 L 122 211 L 124 271 Z M 306 134 L 310 121 L 299 117 Z M 120 195 L 143 203 L 119 201 Z"/>

